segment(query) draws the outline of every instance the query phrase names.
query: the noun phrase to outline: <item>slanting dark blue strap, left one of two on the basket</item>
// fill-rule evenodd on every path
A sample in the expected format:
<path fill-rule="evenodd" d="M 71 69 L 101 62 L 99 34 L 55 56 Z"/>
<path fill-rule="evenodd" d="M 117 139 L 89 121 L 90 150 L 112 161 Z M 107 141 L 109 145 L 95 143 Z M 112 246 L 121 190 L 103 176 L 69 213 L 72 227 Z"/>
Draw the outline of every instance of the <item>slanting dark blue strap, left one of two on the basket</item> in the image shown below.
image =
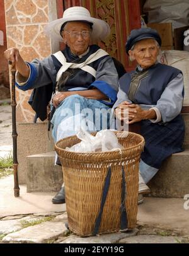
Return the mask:
<path fill-rule="evenodd" d="M 111 172 L 112 172 L 111 167 L 109 167 L 108 168 L 108 173 L 107 173 L 106 179 L 105 179 L 105 187 L 103 189 L 103 195 L 102 195 L 101 205 L 100 205 L 100 212 L 98 214 L 98 217 L 96 218 L 95 228 L 94 228 L 94 231 L 93 231 L 93 236 L 96 236 L 96 234 L 98 233 L 99 227 L 100 227 L 101 214 L 103 213 L 103 208 L 105 206 L 106 197 L 107 197 L 108 190 L 109 190 L 109 187 L 110 187 Z"/>

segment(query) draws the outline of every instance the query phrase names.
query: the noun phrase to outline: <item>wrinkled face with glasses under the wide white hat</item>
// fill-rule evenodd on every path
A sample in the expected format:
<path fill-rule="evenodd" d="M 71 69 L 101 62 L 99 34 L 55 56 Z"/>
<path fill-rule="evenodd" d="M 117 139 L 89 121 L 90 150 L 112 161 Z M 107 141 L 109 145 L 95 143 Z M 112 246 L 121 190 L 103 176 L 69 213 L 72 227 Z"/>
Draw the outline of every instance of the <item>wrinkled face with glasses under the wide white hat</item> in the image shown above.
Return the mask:
<path fill-rule="evenodd" d="M 90 43 L 91 28 L 81 21 L 70 21 L 62 31 L 64 42 L 70 47 L 75 55 L 81 55 L 88 49 Z"/>

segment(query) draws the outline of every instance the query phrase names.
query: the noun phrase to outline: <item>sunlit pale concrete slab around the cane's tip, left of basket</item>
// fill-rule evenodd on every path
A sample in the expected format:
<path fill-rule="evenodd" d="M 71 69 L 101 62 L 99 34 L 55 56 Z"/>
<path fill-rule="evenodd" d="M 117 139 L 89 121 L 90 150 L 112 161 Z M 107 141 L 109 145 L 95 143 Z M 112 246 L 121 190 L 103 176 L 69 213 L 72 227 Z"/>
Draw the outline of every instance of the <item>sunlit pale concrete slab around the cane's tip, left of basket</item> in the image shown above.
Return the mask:
<path fill-rule="evenodd" d="M 66 204 L 52 204 L 54 192 L 26 193 L 26 185 L 20 185 L 20 197 L 14 197 L 14 177 L 0 179 L 0 218 L 40 212 L 63 212 Z"/>

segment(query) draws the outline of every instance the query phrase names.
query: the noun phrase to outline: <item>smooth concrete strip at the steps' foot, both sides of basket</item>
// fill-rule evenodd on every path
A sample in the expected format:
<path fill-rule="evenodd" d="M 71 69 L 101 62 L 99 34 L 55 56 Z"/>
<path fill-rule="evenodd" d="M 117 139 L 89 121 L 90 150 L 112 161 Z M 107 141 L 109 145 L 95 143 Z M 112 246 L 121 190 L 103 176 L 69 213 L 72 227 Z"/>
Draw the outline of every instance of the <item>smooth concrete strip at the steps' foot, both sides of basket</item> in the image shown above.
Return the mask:
<path fill-rule="evenodd" d="M 20 185 L 20 197 L 14 197 L 13 182 L 13 175 L 0 179 L 0 218 L 66 211 L 66 204 L 52 204 L 53 192 L 26 193 L 26 185 Z M 138 208 L 138 224 L 180 230 L 189 236 L 189 209 L 184 209 L 184 203 L 183 199 L 146 197 Z"/>

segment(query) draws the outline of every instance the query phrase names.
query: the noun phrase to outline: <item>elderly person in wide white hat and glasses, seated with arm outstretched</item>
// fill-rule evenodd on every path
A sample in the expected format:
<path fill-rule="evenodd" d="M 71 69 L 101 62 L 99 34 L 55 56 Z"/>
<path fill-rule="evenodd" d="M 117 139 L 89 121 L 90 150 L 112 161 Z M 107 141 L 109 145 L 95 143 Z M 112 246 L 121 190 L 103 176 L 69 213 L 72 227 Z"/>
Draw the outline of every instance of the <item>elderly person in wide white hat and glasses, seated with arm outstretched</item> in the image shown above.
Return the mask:
<path fill-rule="evenodd" d="M 6 50 L 5 57 L 16 65 L 16 85 L 24 91 L 35 89 L 31 106 L 41 120 L 47 117 L 54 92 L 51 123 L 55 142 L 76 134 L 81 126 L 89 131 L 107 129 L 108 125 L 102 127 L 102 113 L 95 113 L 108 112 L 117 100 L 118 74 L 112 57 L 91 42 L 105 39 L 110 27 L 92 18 L 88 9 L 76 6 L 45 26 L 45 32 L 52 40 L 63 40 L 66 49 L 30 63 L 23 61 L 18 49 Z M 52 202 L 65 202 L 63 187 Z"/>

